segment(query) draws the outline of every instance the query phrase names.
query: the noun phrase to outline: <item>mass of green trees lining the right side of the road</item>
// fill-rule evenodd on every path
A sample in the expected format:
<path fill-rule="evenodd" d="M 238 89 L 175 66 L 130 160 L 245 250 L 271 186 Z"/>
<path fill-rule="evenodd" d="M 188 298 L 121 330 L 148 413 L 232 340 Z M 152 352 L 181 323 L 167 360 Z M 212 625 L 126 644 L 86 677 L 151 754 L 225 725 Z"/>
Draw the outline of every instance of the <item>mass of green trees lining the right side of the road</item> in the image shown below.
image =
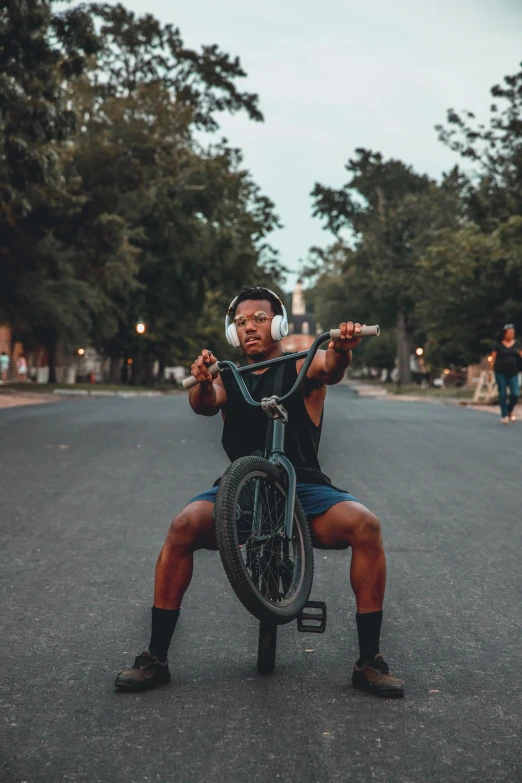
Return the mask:
<path fill-rule="evenodd" d="M 488 125 L 450 109 L 437 128 L 473 161 L 471 175 L 455 167 L 437 184 L 359 149 L 343 188 L 312 193 L 326 228 L 351 235 L 312 250 L 316 313 L 332 318 L 346 302 L 350 314 L 395 326 L 403 382 L 414 335 L 428 363 L 443 367 L 478 361 L 506 321 L 522 328 L 522 71 L 491 93 Z M 363 350 L 361 361 L 385 366 L 376 348 Z"/>

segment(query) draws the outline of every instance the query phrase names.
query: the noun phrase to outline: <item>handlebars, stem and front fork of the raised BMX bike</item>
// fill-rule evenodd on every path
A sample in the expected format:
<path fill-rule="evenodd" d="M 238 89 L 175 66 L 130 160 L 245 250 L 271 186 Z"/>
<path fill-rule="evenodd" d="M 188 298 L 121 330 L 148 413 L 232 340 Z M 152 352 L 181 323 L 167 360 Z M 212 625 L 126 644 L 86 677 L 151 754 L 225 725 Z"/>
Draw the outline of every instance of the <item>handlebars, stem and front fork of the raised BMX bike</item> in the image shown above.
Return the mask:
<path fill-rule="evenodd" d="M 316 339 L 314 340 L 314 342 L 312 343 L 308 351 L 299 351 L 298 353 L 290 353 L 288 355 L 280 356 L 277 359 L 268 359 L 266 362 L 247 364 L 244 365 L 243 367 L 236 367 L 236 365 L 233 362 L 228 362 L 228 361 L 218 362 L 219 370 L 222 370 L 225 367 L 231 370 L 237 382 L 237 385 L 241 390 L 243 398 L 245 399 L 245 402 L 247 402 L 249 405 L 252 405 L 255 408 L 262 408 L 264 413 L 268 416 L 268 418 L 271 418 L 274 421 L 274 429 L 272 433 L 272 447 L 267 455 L 267 459 L 270 462 L 272 462 L 274 465 L 280 467 L 286 473 L 288 479 L 286 503 L 285 503 L 285 536 L 287 539 L 292 537 L 292 524 L 294 519 L 297 479 L 295 475 L 294 466 L 292 465 L 292 463 L 284 453 L 285 429 L 288 423 L 288 413 L 286 409 L 283 407 L 282 403 L 285 400 L 287 400 L 289 397 L 291 397 L 292 394 L 296 392 L 296 390 L 303 382 L 306 373 L 308 372 L 308 368 L 310 367 L 317 351 L 319 350 L 319 346 L 322 343 L 324 343 L 326 340 L 331 340 L 331 339 L 332 338 L 330 336 L 330 332 L 324 332 L 323 334 L 316 337 Z M 294 385 L 292 386 L 290 391 L 284 394 L 282 397 L 273 395 L 272 397 L 264 397 L 260 402 L 258 402 L 257 400 L 254 400 L 252 398 L 252 395 L 250 394 L 244 380 L 241 377 L 241 375 L 243 375 L 244 373 L 252 372 L 253 370 L 260 370 L 264 367 L 271 367 L 274 364 L 282 364 L 283 362 L 291 362 L 291 361 L 295 362 L 297 359 L 303 359 L 303 358 L 305 359 L 305 362 L 301 367 L 301 370 L 299 371 L 299 374 L 296 378 Z"/>

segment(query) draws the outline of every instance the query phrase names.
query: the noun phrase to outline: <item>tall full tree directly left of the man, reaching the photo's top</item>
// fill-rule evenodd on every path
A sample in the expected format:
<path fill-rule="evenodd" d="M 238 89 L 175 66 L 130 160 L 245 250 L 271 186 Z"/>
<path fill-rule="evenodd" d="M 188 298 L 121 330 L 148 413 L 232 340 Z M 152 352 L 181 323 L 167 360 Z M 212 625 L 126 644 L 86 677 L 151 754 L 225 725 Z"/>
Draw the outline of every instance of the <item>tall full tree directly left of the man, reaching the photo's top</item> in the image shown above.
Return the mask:
<path fill-rule="evenodd" d="M 93 13 L 103 46 L 77 99 L 84 131 L 71 161 L 86 194 L 81 219 L 116 212 L 139 251 L 137 285 L 102 344 L 109 355 L 132 354 L 139 312 L 149 360 L 179 362 L 209 290 L 278 273 L 266 241 L 279 225 L 272 202 L 241 169 L 239 151 L 204 149 L 193 135 L 214 130 L 224 110 L 262 119 L 257 96 L 236 89 L 244 72 L 217 47 L 196 54 L 179 30 L 123 6 Z"/>

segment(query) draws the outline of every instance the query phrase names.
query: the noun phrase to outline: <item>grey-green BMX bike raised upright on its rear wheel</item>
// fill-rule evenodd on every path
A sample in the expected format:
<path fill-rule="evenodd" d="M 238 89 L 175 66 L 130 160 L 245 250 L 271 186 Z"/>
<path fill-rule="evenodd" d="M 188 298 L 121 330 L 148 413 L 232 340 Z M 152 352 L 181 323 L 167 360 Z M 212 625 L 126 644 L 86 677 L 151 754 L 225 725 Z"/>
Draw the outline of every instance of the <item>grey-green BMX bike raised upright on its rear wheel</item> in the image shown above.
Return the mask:
<path fill-rule="evenodd" d="M 364 326 L 360 336 L 378 336 L 379 326 Z M 273 421 L 272 443 L 264 456 L 240 457 L 221 478 L 214 521 L 219 554 L 228 580 L 243 606 L 259 620 L 257 668 L 271 674 L 275 666 L 277 627 L 297 619 L 298 630 L 323 633 L 326 604 L 310 601 L 314 561 L 310 530 L 296 495 L 296 474 L 284 453 L 288 413 L 283 402 L 301 386 L 319 346 L 340 336 L 339 329 L 319 335 L 308 351 L 236 367 L 218 361 L 211 375 L 229 369 L 245 401 L 261 407 Z M 242 375 L 283 362 L 305 359 L 293 387 L 282 397 L 254 400 Z M 183 386 L 196 385 L 187 378 Z M 309 610 L 309 611 L 307 611 Z M 310 611 L 311 610 L 311 611 Z"/>

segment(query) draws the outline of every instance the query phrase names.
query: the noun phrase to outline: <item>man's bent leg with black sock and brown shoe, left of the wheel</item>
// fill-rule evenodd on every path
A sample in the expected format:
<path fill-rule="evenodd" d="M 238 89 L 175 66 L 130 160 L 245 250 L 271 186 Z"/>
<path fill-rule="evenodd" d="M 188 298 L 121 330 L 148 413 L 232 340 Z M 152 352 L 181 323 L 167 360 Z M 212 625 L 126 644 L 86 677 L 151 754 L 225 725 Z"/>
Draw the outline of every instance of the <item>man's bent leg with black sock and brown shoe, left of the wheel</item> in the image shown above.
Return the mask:
<path fill-rule="evenodd" d="M 213 503 L 196 501 L 173 519 L 156 563 L 149 646 L 131 669 L 118 674 L 117 687 L 144 690 L 170 682 L 167 653 L 192 579 L 194 552 L 217 549 L 213 510 Z"/>

